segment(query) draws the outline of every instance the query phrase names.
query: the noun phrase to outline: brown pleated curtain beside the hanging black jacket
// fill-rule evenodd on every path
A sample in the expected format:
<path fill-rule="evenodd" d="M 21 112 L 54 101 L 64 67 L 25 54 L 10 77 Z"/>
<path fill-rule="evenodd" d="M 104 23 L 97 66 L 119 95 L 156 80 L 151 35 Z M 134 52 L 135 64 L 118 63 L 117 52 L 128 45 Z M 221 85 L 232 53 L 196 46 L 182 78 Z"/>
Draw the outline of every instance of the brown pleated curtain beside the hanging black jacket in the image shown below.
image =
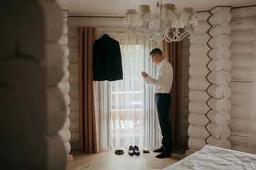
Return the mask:
<path fill-rule="evenodd" d="M 78 28 L 78 86 L 80 152 L 98 152 L 92 49 L 97 28 Z"/>

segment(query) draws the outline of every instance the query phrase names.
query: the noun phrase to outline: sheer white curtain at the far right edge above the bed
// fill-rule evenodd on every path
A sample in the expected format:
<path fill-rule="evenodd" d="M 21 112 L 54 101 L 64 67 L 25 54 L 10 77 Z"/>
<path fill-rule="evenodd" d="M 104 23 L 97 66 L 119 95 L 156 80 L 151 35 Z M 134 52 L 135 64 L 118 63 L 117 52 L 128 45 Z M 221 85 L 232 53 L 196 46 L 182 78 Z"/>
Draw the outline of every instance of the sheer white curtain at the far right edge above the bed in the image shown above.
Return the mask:
<path fill-rule="evenodd" d="M 256 21 L 254 21 L 254 68 L 252 74 L 252 103 L 250 111 L 249 151 L 256 153 Z"/>

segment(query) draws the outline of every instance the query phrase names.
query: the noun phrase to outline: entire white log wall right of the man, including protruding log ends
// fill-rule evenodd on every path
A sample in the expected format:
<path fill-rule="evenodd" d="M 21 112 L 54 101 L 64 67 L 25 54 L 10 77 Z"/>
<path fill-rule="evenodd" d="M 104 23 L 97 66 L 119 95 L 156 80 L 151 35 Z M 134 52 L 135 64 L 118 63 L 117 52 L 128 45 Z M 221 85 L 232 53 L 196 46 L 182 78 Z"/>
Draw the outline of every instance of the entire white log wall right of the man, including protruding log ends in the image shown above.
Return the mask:
<path fill-rule="evenodd" d="M 256 17 L 256 6 L 222 6 L 206 13 L 197 13 L 191 36 L 188 147 L 210 144 L 255 153 L 248 145 L 250 130 L 256 130 L 250 125 L 256 47 L 250 18 Z"/>

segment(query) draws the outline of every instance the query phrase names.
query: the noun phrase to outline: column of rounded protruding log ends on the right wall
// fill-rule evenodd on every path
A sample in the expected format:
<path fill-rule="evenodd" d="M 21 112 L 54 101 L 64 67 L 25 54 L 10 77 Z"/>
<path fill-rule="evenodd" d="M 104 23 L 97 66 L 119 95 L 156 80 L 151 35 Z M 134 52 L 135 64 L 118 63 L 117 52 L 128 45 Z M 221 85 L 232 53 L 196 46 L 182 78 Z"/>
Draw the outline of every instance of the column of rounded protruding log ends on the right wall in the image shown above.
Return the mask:
<path fill-rule="evenodd" d="M 209 145 L 215 145 L 226 149 L 231 149 L 231 143 L 228 140 L 230 137 L 230 114 L 228 113 L 231 108 L 230 100 L 230 87 L 228 86 L 231 81 L 230 69 L 230 14 L 229 6 L 217 7 L 210 10 L 212 14 L 208 18 L 208 23 L 211 27 L 208 30 L 210 40 L 208 45 L 210 51 L 208 56 L 210 62 L 207 67 L 210 70 L 207 79 L 210 81 L 210 86 L 206 92 L 210 95 L 208 106 L 210 111 L 206 114 L 210 123 L 206 126 L 210 137 L 206 139 Z M 213 50 L 213 52 L 211 52 Z"/>

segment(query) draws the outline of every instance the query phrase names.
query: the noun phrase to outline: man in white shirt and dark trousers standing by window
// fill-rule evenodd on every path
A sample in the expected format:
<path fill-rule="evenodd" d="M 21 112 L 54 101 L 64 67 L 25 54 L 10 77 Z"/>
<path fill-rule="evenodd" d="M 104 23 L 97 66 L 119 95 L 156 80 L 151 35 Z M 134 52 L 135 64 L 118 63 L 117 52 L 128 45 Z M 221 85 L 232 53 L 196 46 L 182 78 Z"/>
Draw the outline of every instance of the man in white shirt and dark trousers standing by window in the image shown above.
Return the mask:
<path fill-rule="evenodd" d="M 154 84 L 155 86 L 154 100 L 159 116 L 161 134 L 163 135 L 161 148 L 154 150 L 154 152 L 161 152 L 161 154 L 156 156 L 157 158 L 171 157 L 172 137 L 171 123 L 169 121 L 171 96 L 169 93 L 174 77 L 173 68 L 171 63 L 163 57 L 163 53 L 159 48 L 152 50 L 149 55 L 151 56 L 152 62 L 156 63 L 159 67 L 159 72 L 156 79 L 146 74 L 146 72 L 142 72 L 142 76 L 144 77 L 146 84 Z"/>

